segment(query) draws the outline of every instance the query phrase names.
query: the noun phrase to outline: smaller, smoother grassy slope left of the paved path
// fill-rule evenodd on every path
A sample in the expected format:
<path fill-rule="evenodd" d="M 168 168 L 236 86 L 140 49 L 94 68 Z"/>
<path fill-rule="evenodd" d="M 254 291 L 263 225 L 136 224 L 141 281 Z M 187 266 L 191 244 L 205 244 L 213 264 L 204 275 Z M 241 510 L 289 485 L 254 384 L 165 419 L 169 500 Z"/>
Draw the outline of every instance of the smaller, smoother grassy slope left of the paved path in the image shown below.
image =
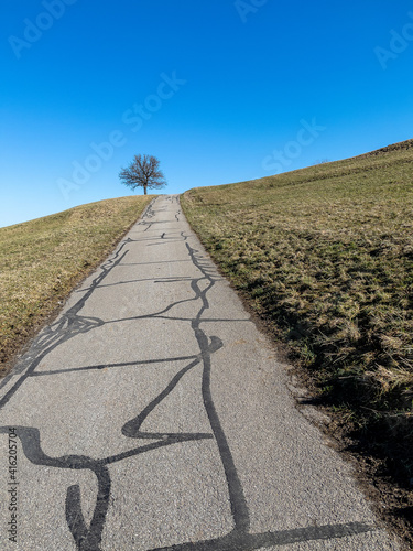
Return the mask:
<path fill-rule="evenodd" d="M 111 252 L 151 196 L 101 201 L 0 228 L 0 372 Z"/>

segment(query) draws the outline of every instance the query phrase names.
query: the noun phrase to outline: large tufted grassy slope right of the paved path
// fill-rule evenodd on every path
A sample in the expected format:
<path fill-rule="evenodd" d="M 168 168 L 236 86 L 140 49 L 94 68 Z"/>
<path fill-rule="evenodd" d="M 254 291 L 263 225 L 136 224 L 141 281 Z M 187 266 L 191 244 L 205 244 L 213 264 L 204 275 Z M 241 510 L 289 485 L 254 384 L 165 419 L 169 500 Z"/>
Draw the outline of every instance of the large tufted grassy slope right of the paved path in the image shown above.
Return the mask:
<path fill-rule="evenodd" d="M 409 485 L 413 140 L 194 188 L 182 204 L 222 272 L 287 344 L 323 401 L 345 412 L 377 453 L 396 456 Z"/>

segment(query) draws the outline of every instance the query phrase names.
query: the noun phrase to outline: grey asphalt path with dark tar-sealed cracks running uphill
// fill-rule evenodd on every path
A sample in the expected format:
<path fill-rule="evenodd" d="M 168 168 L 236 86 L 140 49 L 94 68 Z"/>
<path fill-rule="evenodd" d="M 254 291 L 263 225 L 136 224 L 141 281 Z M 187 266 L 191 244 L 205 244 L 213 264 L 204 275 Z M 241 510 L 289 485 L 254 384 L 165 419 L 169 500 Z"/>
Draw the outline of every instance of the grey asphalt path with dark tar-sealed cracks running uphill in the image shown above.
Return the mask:
<path fill-rule="evenodd" d="M 286 382 L 157 197 L 1 385 L 0 549 L 398 549 Z"/>

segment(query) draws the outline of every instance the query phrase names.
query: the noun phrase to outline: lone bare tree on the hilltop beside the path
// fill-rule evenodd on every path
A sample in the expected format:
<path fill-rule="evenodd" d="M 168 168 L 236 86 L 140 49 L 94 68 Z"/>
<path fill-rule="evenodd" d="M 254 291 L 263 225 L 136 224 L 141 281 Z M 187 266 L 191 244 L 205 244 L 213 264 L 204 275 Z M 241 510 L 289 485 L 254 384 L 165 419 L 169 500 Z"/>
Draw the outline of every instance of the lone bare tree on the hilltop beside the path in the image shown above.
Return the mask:
<path fill-rule="evenodd" d="M 126 169 L 121 169 L 119 177 L 122 184 L 132 190 L 143 187 L 144 195 L 149 188 L 161 188 L 166 185 L 163 172 L 159 169 L 160 161 L 153 155 L 134 155 Z"/>

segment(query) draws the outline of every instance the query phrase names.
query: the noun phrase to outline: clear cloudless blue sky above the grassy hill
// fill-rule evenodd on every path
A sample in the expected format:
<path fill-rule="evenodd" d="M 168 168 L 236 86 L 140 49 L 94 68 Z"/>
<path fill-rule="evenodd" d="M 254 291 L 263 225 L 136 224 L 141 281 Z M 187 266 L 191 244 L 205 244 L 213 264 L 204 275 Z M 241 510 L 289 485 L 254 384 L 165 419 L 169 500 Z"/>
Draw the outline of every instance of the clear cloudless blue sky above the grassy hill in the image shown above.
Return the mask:
<path fill-rule="evenodd" d="M 413 137 L 413 4 L 2 0 L 0 227 L 262 177 Z M 139 191 L 139 193 L 141 193 Z"/>

